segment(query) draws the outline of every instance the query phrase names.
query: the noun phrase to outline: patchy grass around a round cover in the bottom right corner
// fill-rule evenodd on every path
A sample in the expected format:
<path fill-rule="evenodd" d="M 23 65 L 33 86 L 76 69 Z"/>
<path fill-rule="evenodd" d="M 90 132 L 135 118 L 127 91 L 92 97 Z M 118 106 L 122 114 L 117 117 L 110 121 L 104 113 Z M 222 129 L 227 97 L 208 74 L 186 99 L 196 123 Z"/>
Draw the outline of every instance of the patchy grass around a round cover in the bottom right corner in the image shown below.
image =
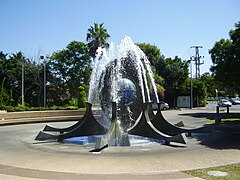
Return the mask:
<path fill-rule="evenodd" d="M 227 172 L 228 176 L 223 177 L 215 177 L 215 176 L 209 176 L 207 172 L 209 171 L 222 171 Z M 191 171 L 184 171 L 184 173 L 203 178 L 203 179 L 240 179 L 240 163 L 238 164 L 231 164 L 226 166 L 219 166 L 219 167 L 211 167 L 206 169 L 197 169 L 197 170 L 191 170 Z"/>

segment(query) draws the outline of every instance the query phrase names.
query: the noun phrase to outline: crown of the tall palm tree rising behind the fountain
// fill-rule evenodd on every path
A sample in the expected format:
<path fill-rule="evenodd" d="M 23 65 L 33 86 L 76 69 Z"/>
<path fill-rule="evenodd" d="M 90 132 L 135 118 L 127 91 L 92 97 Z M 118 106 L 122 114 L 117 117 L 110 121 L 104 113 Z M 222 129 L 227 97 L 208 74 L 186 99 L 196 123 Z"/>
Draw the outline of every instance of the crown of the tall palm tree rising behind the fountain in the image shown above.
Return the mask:
<path fill-rule="evenodd" d="M 103 26 L 103 23 L 100 25 L 94 23 L 94 26 L 91 26 L 87 32 L 87 42 L 89 47 L 90 56 L 95 58 L 96 51 L 98 47 L 108 48 L 109 44 L 107 42 L 107 38 L 110 35 L 107 33 L 107 29 Z"/>

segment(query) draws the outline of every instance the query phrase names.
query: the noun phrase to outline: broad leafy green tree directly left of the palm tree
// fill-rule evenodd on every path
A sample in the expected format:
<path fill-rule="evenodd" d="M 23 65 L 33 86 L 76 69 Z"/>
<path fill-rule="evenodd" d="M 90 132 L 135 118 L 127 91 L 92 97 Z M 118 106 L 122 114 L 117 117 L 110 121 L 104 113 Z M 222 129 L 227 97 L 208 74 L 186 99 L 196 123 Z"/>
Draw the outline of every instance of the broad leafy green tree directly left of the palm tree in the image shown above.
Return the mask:
<path fill-rule="evenodd" d="M 66 49 L 53 53 L 48 62 L 52 73 L 49 92 L 59 103 L 78 97 L 78 87 L 89 84 L 91 67 L 87 45 L 72 41 Z"/>

